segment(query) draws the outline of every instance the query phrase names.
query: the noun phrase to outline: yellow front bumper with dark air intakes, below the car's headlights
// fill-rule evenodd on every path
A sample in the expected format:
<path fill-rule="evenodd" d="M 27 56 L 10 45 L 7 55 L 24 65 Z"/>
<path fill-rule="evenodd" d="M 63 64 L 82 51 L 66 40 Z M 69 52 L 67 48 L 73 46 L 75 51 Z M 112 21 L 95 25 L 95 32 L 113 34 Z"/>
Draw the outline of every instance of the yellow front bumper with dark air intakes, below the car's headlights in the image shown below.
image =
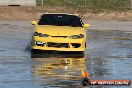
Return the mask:
<path fill-rule="evenodd" d="M 36 43 L 41 42 L 41 43 Z M 85 51 L 85 38 L 40 38 L 33 37 L 32 49 L 55 50 L 55 51 Z"/>

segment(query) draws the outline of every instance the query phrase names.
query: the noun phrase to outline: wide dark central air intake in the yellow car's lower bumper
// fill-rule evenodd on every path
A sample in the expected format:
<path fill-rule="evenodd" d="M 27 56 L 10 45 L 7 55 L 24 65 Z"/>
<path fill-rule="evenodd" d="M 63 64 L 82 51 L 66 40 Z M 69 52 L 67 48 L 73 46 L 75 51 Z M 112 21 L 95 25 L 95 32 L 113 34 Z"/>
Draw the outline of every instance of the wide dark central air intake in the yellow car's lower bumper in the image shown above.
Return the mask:
<path fill-rule="evenodd" d="M 68 43 L 53 43 L 53 42 L 48 42 L 47 43 L 48 47 L 56 47 L 56 48 L 69 48 Z"/>

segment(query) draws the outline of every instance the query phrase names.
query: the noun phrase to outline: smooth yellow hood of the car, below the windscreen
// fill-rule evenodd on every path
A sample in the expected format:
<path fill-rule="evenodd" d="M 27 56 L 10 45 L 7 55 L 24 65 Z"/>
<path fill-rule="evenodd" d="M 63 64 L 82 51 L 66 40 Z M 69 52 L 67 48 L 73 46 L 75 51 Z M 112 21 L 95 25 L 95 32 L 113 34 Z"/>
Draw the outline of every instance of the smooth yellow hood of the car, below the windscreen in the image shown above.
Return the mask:
<path fill-rule="evenodd" d="M 52 36 L 70 36 L 85 34 L 85 30 L 82 27 L 70 27 L 70 26 L 51 26 L 42 25 L 37 26 L 36 31 L 43 34 Z"/>

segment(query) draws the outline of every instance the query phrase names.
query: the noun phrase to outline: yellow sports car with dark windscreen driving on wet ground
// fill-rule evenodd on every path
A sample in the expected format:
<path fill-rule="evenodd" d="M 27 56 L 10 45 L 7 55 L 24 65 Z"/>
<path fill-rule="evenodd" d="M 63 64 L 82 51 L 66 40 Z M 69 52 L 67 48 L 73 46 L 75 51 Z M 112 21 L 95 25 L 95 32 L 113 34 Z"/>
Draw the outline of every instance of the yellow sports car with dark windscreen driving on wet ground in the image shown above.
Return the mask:
<path fill-rule="evenodd" d="M 39 22 L 31 21 L 36 28 L 32 36 L 32 51 L 79 51 L 86 49 L 86 29 L 76 14 L 45 13 Z"/>

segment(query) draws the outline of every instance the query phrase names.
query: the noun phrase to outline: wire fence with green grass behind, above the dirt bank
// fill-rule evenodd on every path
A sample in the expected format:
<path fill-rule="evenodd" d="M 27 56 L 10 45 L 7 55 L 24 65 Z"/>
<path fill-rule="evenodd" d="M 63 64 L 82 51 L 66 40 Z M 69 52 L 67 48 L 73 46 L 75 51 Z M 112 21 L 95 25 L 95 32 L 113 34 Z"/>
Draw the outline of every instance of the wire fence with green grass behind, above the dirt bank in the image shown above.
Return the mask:
<path fill-rule="evenodd" d="M 132 9 L 132 0 L 37 0 L 38 6 L 77 6 L 93 9 Z"/>

